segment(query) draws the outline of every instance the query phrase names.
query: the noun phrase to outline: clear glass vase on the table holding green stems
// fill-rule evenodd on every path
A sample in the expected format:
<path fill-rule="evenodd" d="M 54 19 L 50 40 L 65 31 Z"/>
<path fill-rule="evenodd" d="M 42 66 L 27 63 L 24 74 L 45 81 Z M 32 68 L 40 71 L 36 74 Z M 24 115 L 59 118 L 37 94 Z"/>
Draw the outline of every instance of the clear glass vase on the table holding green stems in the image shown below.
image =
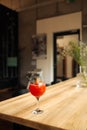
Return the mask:
<path fill-rule="evenodd" d="M 77 87 L 87 87 L 87 66 L 80 66 L 77 74 Z"/>

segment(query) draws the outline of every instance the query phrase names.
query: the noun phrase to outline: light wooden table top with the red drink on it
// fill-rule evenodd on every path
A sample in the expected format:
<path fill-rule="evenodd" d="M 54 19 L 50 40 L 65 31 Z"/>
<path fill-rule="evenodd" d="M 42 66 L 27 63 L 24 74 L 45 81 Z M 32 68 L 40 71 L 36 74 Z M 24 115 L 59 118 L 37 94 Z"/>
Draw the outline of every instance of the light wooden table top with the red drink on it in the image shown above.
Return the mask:
<path fill-rule="evenodd" d="M 87 88 L 73 78 L 47 87 L 40 99 L 43 114 L 32 114 L 36 99 L 30 94 L 0 102 L 0 118 L 38 130 L 87 130 Z"/>

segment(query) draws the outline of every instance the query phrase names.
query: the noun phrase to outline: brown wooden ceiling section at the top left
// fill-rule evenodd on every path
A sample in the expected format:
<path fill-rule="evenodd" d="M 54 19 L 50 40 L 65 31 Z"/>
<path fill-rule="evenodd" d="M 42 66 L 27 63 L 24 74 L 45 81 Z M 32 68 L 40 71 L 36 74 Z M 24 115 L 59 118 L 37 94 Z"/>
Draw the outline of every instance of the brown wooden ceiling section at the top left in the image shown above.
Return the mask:
<path fill-rule="evenodd" d="M 0 4 L 18 12 L 68 0 L 0 0 Z"/>

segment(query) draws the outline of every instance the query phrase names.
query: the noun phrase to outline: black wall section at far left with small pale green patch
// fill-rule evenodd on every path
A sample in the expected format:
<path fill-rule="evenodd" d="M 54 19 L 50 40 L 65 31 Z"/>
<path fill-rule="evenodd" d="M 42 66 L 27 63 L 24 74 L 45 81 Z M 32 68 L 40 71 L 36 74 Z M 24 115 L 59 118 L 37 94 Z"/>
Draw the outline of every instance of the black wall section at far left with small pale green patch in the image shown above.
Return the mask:
<path fill-rule="evenodd" d="M 17 25 L 17 12 L 0 5 L 0 88 L 14 86 L 17 83 Z"/>

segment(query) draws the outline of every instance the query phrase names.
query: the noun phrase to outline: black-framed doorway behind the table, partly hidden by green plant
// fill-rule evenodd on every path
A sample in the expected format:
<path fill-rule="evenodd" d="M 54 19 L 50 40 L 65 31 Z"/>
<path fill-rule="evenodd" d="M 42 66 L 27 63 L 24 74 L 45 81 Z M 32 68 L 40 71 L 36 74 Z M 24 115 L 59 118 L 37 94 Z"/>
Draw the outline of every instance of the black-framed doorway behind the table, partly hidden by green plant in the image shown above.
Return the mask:
<path fill-rule="evenodd" d="M 54 82 L 57 83 L 76 76 L 78 72 L 78 65 L 71 57 L 67 59 L 60 59 L 59 50 L 72 40 L 80 40 L 80 30 L 70 30 L 64 32 L 57 32 L 53 34 L 53 52 L 54 52 Z"/>

